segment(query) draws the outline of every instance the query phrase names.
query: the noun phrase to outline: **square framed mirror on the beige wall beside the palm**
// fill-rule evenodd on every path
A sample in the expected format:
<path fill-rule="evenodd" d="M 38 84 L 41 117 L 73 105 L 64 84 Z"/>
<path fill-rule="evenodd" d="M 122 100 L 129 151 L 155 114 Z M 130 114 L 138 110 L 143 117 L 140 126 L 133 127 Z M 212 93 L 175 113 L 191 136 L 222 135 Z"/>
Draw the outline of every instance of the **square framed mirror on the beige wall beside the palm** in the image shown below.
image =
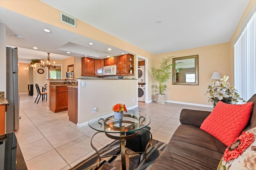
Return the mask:
<path fill-rule="evenodd" d="M 198 55 L 172 59 L 172 84 L 198 85 Z"/>

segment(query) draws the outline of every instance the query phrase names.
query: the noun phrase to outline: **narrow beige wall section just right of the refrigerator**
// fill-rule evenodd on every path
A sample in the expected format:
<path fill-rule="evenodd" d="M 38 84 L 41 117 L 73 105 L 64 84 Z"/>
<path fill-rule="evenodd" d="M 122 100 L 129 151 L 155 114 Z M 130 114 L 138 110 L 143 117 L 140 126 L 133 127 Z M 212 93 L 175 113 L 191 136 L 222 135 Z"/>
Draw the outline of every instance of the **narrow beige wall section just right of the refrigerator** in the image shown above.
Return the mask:
<path fill-rule="evenodd" d="M 19 63 L 19 93 L 28 93 L 28 73 L 25 71 L 28 63 Z"/>

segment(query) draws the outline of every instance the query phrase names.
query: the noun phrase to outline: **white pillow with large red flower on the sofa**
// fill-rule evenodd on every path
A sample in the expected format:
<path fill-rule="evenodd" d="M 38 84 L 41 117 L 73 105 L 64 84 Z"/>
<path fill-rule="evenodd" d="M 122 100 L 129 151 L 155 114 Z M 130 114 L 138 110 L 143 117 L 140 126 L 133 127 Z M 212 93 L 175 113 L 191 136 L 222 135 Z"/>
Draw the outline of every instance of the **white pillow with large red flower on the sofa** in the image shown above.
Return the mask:
<path fill-rule="evenodd" d="M 256 170 L 256 127 L 236 138 L 226 148 L 217 170 Z"/>

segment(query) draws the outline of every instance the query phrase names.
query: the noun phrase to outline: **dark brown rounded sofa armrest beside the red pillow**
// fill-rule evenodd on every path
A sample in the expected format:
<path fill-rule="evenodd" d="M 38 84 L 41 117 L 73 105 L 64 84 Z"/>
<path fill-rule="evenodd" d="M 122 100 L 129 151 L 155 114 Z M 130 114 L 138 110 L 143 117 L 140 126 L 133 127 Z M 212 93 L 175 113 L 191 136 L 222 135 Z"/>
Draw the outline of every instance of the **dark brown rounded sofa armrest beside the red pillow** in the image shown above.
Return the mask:
<path fill-rule="evenodd" d="M 180 112 L 180 123 L 200 127 L 210 113 L 209 111 L 182 109 Z"/>

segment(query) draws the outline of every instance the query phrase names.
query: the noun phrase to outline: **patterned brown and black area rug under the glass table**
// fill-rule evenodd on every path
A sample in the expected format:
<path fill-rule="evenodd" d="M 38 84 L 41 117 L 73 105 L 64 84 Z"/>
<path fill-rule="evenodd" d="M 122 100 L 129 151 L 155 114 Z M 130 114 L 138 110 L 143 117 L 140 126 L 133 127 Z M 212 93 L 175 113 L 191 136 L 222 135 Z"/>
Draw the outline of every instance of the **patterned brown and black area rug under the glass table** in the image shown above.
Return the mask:
<path fill-rule="evenodd" d="M 126 154 L 126 169 L 149 170 L 152 164 L 154 164 L 156 158 L 158 158 L 162 150 L 164 150 L 165 146 L 165 143 L 153 139 L 152 146 L 147 150 L 148 162 L 146 162 L 144 154 Z M 100 156 L 119 154 L 120 141 L 116 140 L 108 144 L 99 150 L 99 152 Z M 127 153 L 133 152 L 128 150 Z M 70 170 L 122 170 L 121 154 L 118 156 L 102 158 L 100 161 L 98 154 L 95 153 L 86 160 L 83 160 L 76 166 L 70 168 Z"/>

